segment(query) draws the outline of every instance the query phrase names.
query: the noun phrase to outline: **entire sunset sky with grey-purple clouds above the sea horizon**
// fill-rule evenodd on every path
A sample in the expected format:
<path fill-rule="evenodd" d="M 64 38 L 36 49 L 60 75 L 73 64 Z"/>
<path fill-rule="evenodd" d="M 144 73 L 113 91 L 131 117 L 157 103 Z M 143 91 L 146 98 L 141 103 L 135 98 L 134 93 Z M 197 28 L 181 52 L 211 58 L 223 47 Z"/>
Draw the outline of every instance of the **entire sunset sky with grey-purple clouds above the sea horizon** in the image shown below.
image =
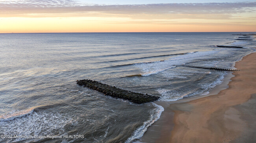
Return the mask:
<path fill-rule="evenodd" d="M 255 0 L 0 0 L 0 33 L 256 32 Z"/>

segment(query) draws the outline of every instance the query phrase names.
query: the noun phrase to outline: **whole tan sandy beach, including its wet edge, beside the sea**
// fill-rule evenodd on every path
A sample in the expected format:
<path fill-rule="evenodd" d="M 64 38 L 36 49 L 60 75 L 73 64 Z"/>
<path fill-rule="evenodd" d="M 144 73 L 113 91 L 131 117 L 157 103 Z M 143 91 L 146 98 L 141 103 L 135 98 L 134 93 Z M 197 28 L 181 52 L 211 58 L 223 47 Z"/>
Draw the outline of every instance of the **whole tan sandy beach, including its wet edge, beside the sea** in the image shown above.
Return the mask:
<path fill-rule="evenodd" d="M 196 100 L 163 104 L 145 143 L 256 143 L 256 53 L 235 66 L 229 88 Z"/>

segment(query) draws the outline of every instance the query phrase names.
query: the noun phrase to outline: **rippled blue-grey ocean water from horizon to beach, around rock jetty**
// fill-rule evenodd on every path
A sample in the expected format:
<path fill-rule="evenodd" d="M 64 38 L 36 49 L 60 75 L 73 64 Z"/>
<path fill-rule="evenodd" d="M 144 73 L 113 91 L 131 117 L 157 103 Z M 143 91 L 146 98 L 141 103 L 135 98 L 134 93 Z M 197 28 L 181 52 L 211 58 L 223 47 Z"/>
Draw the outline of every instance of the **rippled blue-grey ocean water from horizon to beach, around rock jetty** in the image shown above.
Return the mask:
<path fill-rule="evenodd" d="M 255 47 L 255 37 L 236 40 L 241 36 L 233 34 L 240 33 L 0 34 L 0 134 L 84 137 L 0 142 L 136 141 L 163 108 L 110 98 L 76 80 L 97 80 L 160 101 L 207 94 L 227 72 L 182 65 L 234 69 L 254 52 L 249 47 Z"/>

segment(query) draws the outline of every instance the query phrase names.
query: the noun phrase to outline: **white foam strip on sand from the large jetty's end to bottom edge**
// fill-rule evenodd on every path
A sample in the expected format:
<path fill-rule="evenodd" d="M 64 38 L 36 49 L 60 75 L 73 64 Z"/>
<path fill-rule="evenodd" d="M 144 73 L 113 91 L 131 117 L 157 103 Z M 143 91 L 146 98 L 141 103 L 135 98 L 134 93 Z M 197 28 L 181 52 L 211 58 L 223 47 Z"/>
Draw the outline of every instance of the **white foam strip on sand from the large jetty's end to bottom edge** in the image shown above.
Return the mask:
<path fill-rule="evenodd" d="M 150 119 L 148 121 L 145 121 L 141 127 L 135 130 L 132 136 L 128 138 L 125 141 L 125 143 L 130 143 L 135 139 L 141 138 L 143 134 L 147 131 L 148 127 L 160 118 L 161 113 L 164 111 L 163 107 L 160 105 L 157 105 L 156 103 L 152 103 L 152 104 L 154 105 L 154 107 L 156 107 L 156 109 L 152 111 Z"/>

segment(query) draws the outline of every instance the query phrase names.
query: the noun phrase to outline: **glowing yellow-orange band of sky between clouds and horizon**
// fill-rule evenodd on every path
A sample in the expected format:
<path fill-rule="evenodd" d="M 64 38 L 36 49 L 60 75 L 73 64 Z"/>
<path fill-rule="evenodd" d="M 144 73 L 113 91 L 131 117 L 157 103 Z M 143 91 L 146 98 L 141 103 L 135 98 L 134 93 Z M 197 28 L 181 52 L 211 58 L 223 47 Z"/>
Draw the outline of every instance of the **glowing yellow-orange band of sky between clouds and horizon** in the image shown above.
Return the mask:
<path fill-rule="evenodd" d="M 80 32 L 255 32 L 256 25 L 232 24 L 217 20 L 161 22 L 104 17 L 0 18 L 0 33 Z"/>

